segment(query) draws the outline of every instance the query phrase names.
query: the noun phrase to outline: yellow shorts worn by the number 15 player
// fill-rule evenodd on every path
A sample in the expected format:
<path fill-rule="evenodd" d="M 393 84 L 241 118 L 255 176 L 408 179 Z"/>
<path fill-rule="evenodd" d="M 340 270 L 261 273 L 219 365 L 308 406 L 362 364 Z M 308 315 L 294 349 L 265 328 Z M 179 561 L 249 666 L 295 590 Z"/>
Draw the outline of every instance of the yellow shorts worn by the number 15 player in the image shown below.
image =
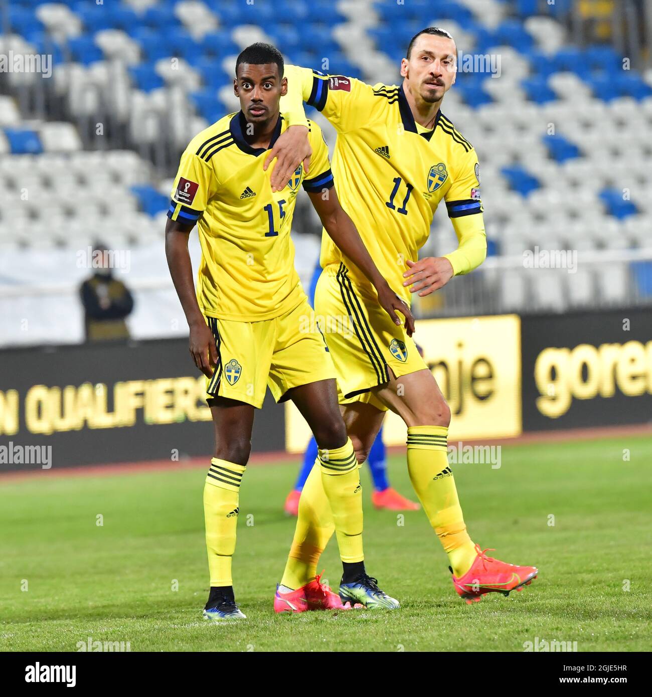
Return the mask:
<path fill-rule="evenodd" d="M 206 317 L 206 322 L 218 347 L 218 365 L 213 377 L 206 378 L 207 400 L 227 397 L 261 408 L 268 385 L 276 401 L 285 401 L 291 388 L 335 378 L 308 298 L 274 319 L 237 322 Z"/>

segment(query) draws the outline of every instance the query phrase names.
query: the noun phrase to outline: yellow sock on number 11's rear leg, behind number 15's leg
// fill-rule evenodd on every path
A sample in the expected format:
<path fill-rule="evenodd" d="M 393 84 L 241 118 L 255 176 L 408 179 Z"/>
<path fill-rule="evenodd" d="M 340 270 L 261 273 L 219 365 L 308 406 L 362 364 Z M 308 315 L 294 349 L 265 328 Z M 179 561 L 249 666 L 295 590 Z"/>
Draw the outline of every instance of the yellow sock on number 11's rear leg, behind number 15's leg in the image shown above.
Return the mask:
<path fill-rule="evenodd" d="M 281 585 L 296 590 L 310 583 L 317 574 L 317 563 L 335 532 L 331 505 L 321 484 L 321 471 L 315 461 L 305 480 L 299 499 L 294 539 L 285 565 Z"/>

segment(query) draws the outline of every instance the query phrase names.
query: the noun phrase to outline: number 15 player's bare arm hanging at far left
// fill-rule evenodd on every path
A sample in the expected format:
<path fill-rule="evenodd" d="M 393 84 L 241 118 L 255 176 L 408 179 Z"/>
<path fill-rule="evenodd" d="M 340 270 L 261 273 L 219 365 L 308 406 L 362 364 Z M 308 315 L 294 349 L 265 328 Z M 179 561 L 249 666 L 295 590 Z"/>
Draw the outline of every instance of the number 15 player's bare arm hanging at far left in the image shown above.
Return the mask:
<path fill-rule="evenodd" d="M 210 378 L 218 362 L 218 348 L 215 346 L 215 337 L 204 320 L 202 310 L 197 304 L 197 296 L 195 296 L 192 263 L 188 253 L 188 237 L 193 226 L 194 223 L 189 225 L 176 220 L 167 220 L 165 256 L 176 294 L 179 296 L 190 328 L 190 355 L 199 370 Z"/>

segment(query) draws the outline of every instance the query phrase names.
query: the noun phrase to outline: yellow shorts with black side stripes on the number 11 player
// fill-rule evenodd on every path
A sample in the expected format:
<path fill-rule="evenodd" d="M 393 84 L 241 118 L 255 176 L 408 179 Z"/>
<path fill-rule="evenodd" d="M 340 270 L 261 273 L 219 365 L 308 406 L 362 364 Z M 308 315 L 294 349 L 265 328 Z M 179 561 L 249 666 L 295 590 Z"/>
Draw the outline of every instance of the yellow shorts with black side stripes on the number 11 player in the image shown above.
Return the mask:
<path fill-rule="evenodd" d="M 370 289 L 351 281 L 344 264 L 322 271 L 314 309 L 331 349 L 340 404 L 367 401 L 386 411 L 370 390 L 388 382 L 388 368 L 397 378 L 427 368 L 404 326 L 391 321 Z"/>

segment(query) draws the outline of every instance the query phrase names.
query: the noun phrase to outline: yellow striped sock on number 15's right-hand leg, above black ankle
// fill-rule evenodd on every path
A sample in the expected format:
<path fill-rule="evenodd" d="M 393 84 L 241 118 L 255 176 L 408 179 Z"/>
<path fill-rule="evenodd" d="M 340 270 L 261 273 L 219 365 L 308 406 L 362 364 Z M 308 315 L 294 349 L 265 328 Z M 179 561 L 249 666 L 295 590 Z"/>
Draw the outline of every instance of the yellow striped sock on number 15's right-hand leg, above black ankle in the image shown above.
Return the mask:
<path fill-rule="evenodd" d="M 351 438 L 342 447 L 319 450 L 321 483 L 331 504 L 335 535 L 338 537 L 342 562 L 361 562 L 365 556 L 362 546 L 362 487 L 358 461 Z"/>

